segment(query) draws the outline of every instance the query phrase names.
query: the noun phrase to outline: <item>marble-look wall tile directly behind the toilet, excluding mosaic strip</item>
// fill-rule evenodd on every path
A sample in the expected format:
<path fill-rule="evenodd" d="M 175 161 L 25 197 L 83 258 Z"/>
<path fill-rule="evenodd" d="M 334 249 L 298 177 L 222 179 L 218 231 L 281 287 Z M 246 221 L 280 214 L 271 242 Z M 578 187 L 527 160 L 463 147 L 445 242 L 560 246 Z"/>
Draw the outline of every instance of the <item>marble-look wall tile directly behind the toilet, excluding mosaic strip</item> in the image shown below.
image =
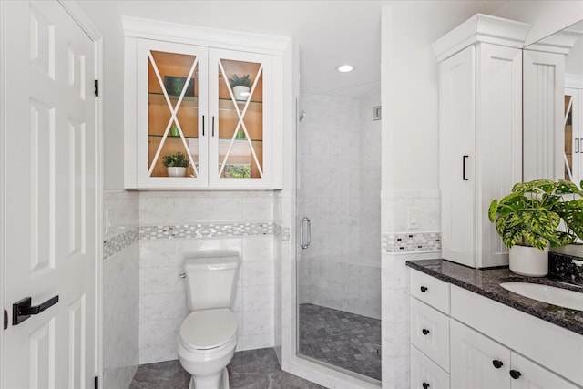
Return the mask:
<path fill-rule="evenodd" d="M 273 222 L 273 192 L 141 192 L 140 226 L 210 222 Z M 139 241 L 139 363 L 177 359 L 180 323 L 188 315 L 182 261 L 199 250 L 236 250 L 242 266 L 234 312 L 237 350 L 272 347 L 276 256 L 272 233 L 210 239 Z"/>

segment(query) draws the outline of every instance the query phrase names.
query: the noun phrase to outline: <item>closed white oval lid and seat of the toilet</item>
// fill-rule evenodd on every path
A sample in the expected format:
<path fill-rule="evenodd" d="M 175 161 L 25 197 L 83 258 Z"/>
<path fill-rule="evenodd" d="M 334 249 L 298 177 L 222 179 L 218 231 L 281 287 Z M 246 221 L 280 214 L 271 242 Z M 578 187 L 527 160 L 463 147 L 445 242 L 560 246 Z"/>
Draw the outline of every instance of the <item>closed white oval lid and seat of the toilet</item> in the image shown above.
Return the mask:
<path fill-rule="evenodd" d="M 191 352 L 216 349 L 237 336 L 237 327 L 230 309 L 195 311 L 180 325 L 179 341 Z"/>

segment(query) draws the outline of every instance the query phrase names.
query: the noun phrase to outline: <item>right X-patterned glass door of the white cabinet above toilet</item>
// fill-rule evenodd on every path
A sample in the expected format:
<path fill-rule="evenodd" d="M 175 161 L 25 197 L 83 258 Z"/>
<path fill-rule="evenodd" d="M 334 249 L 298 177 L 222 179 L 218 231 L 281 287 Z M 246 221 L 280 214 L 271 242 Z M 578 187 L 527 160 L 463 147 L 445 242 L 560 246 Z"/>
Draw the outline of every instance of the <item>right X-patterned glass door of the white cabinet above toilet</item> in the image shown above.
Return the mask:
<path fill-rule="evenodd" d="M 264 160 L 271 130 L 266 125 L 269 60 L 232 51 L 210 53 L 211 185 L 237 186 L 239 181 L 249 186 L 269 173 Z"/>

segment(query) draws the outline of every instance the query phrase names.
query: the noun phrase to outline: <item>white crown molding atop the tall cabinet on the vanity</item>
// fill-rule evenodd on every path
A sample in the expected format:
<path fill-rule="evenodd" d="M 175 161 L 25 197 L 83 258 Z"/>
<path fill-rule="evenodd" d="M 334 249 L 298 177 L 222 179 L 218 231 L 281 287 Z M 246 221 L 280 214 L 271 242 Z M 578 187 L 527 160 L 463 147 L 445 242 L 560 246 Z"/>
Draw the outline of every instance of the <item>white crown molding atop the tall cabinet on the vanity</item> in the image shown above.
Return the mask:
<path fill-rule="evenodd" d="M 531 27 L 515 20 L 476 14 L 437 39 L 431 48 L 438 62 L 477 43 L 522 48 Z"/>

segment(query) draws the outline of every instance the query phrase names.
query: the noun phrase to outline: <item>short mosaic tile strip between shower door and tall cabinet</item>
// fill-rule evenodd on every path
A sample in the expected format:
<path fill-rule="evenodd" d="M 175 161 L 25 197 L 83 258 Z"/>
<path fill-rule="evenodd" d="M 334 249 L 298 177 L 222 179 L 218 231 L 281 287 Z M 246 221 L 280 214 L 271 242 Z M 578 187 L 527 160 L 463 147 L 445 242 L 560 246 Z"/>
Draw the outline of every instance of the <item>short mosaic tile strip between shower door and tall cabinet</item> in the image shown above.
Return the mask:
<path fill-rule="evenodd" d="M 441 251 L 441 232 L 393 232 L 381 237 L 383 252 Z"/>

